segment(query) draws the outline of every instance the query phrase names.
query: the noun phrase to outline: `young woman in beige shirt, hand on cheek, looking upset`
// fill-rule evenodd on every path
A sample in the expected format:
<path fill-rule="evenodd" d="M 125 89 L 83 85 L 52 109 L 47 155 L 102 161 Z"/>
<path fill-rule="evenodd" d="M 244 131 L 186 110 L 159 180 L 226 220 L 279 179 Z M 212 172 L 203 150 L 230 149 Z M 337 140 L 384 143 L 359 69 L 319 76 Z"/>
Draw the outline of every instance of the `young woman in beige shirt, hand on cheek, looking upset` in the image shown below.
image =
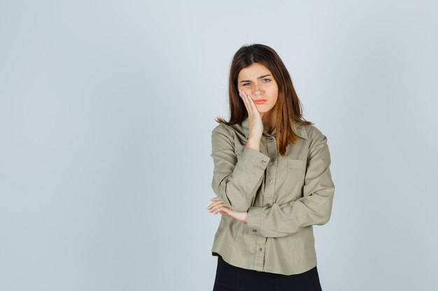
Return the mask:
<path fill-rule="evenodd" d="M 229 72 L 229 121 L 211 133 L 221 214 L 213 291 L 321 290 L 313 225 L 330 219 L 327 137 L 302 117 L 292 80 L 267 45 L 241 47 Z"/>

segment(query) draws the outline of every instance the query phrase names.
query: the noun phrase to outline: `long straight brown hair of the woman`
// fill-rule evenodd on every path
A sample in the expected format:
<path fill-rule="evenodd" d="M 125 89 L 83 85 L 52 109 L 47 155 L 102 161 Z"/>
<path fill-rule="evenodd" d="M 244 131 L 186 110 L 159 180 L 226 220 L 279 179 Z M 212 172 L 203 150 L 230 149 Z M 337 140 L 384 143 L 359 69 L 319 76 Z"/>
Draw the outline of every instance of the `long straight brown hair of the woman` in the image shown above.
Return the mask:
<path fill-rule="evenodd" d="M 288 142 L 295 144 L 299 137 L 294 133 L 292 127 L 299 125 L 312 125 L 302 117 L 302 103 L 298 99 L 292 84 L 288 69 L 281 61 L 278 54 L 271 47 L 261 44 L 243 45 L 232 59 L 229 70 L 228 94 L 229 111 L 231 117 L 225 121 L 222 117 L 216 117 L 218 123 L 227 125 L 240 124 L 248 117 L 243 100 L 237 89 L 237 77 L 239 72 L 254 63 L 267 67 L 278 86 L 278 100 L 276 106 L 276 142 L 278 153 L 285 155 Z M 273 107 L 274 109 L 275 107 Z M 286 129 L 286 130 L 283 130 Z"/>

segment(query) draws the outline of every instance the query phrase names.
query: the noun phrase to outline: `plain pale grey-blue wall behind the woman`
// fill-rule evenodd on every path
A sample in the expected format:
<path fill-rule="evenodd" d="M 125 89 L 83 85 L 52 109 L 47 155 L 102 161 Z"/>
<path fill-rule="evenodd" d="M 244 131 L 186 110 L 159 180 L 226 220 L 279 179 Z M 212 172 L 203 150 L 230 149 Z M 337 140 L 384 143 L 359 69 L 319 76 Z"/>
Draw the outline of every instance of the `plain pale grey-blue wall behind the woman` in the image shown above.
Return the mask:
<path fill-rule="evenodd" d="M 0 1 L 0 290 L 211 290 L 241 45 L 327 136 L 325 291 L 437 290 L 435 1 Z"/>

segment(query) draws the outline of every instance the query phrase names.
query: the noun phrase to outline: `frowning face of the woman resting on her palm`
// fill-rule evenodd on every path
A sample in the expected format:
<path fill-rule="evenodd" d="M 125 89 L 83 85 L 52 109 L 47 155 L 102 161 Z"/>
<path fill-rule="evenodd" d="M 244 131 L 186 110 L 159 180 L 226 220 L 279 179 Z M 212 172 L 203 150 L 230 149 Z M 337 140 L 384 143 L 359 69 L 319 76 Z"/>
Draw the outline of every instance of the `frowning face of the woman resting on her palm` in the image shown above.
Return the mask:
<path fill-rule="evenodd" d="M 243 90 L 254 100 L 260 113 L 271 110 L 278 99 L 278 86 L 271 71 L 258 63 L 243 68 L 239 72 L 237 89 Z"/>

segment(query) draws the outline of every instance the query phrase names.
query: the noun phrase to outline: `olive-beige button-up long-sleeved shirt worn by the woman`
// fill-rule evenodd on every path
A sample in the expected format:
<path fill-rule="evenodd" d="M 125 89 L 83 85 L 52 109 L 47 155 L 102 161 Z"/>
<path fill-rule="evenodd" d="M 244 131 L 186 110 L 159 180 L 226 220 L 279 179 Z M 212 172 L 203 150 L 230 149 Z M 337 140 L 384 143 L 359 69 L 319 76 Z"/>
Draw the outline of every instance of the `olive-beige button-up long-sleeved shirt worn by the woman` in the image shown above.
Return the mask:
<path fill-rule="evenodd" d="M 327 137 L 316 126 L 294 128 L 296 144 L 286 155 L 276 148 L 275 128 L 264 124 L 260 151 L 246 147 L 248 117 L 211 133 L 211 187 L 234 211 L 248 211 L 248 223 L 221 215 L 212 255 L 236 267 L 299 274 L 316 266 L 312 225 L 330 219 L 334 184 Z"/>

